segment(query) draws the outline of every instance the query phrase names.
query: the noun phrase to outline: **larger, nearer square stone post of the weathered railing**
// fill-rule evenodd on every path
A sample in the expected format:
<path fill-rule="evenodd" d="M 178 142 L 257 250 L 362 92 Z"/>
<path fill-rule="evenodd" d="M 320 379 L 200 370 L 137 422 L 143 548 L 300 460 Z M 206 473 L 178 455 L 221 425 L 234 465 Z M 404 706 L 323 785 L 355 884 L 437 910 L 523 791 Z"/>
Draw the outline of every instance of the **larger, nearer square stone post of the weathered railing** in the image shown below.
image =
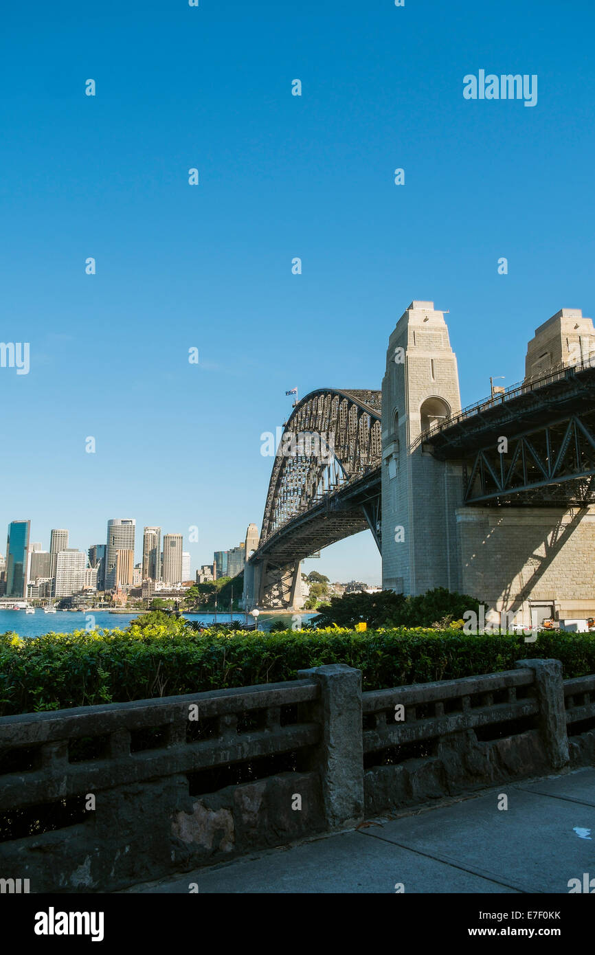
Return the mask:
<path fill-rule="evenodd" d="M 362 674 L 342 663 L 298 670 L 320 684 L 322 739 L 316 764 L 322 778 L 329 829 L 359 822 L 364 814 Z"/>

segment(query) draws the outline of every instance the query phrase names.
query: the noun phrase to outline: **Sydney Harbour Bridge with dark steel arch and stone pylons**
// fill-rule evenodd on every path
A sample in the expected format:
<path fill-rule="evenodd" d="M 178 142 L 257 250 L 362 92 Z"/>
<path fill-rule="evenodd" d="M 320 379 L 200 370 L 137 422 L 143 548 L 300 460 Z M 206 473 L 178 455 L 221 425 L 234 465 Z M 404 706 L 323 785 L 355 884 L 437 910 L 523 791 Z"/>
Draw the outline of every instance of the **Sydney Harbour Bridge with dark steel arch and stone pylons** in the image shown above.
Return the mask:
<path fill-rule="evenodd" d="M 428 314 L 422 318 L 424 308 Z M 563 515 L 571 524 L 576 514 L 590 515 L 595 505 L 595 350 L 585 346 L 588 326 L 585 336 L 584 324 L 570 321 L 575 311 L 563 309 L 542 326 L 541 337 L 537 329 L 527 357 L 533 373 L 465 409 L 457 407 L 456 358 L 442 313 L 433 303 L 417 302 L 393 332 L 382 391 L 322 388 L 297 402 L 274 459 L 260 542 L 244 571 L 247 608 L 299 607 L 300 562 L 366 529 L 382 555 L 383 585 L 413 593 L 426 584 L 463 585 L 465 567 L 475 555 L 465 555 L 455 527 L 466 527 L 474 516 L 484 520 L 486 508 L 492 509 L 486 520 L 496 521 L 500 533 L 502 515 L 516 515 L 518 525 L 519 515 L 522 524 L 523 514 L 537 514 L 542 525 L 545 520 L 546 544 L 552 520 L 560 536 Z M 577 314 L 592 329 L 590 319 Z M 562 345 L 560 355 L 550 346 L 549 363 L 532 366 L 543 336 L 551 336 L 555 326 L 562 340 L 569 321 L 579 329 L 582 351 L 571 350 L 566 336 L 567 353 Z M 424 341 L 431 322 L 434 339 Z M 396 354 L 397 340 L 404 343 L 402 355 Z M 595 337 L 590 340 L 595 347 Z M 536 520 L 529 521 L 531 526 Z M 589 526 L 595 530 L 595 523 Z M 408 538 L 400 553 L 397 527 Z M 493 533 L 494 528 L 487 538 Z M 434 537 L 435 548 L 460 551 L 446 576 L 442 563 L 425 556 L 428 536 Z M 533 543 L 528 541 L 529 562 Z M 395 561 L 400 563 L 392 573 Z M 410 573 L 415 562 L 418 584 Z M 420 570 L 422 562 L 428 566 Z M 515 565 L 504 574 L 504 589 L 510 589 L 518 570 Z"/>

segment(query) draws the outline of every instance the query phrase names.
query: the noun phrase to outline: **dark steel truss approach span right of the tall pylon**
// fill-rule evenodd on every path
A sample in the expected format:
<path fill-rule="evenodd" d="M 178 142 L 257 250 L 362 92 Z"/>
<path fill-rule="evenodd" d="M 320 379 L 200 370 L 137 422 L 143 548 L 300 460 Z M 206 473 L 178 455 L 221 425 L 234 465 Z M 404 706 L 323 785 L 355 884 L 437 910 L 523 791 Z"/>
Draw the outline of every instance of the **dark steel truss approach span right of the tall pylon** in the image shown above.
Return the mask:
<path fill-rule="evenodd" d="M 593 361 L 522 382 L 418 440 L 436 457 L 463 462 L 465 504 L 595 504 Z"/>

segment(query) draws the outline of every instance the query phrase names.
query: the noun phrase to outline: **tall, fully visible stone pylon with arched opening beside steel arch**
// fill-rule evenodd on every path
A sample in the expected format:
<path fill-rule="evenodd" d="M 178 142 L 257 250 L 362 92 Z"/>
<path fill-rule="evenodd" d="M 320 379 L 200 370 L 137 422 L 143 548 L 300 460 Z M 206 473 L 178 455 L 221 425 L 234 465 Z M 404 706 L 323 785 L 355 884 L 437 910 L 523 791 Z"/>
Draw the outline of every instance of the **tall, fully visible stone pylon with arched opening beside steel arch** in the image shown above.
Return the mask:
<path fill-rule="evenodd" d="M 455 509 L 462 469 L 436 460 L 419 435 L 460 411 L 457 358 L 444 314 L 412 302 L 389 339 L 382 381 L 382 585 L 418 594 L 457 590 Z"/>

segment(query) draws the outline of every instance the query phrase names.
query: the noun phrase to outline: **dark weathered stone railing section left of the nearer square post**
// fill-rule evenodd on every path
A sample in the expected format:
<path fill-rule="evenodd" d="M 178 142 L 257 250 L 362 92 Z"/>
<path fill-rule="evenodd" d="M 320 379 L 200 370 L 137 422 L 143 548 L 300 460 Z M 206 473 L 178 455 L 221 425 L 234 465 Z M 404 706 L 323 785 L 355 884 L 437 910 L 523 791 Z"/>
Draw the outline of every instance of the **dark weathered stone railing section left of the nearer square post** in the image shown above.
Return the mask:
<path fill-rule="evenodd" d="M 298 680 L 1 718 L 0 876 L 112 891 L 324 829 L 319 697 Z"/>

